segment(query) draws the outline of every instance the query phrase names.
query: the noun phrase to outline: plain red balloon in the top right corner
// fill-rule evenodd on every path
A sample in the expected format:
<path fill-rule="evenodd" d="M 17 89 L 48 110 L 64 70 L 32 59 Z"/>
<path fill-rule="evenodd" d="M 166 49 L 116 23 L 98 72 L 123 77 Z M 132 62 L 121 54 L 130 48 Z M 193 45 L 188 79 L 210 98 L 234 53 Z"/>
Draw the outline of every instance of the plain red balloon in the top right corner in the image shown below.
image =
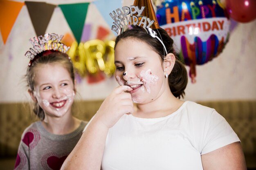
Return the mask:
<path fill-rule="evenodd" d="M 256 0 L 226 0 L 230 18 L 237 22 L 250 22 L 256 19 Z"/>

